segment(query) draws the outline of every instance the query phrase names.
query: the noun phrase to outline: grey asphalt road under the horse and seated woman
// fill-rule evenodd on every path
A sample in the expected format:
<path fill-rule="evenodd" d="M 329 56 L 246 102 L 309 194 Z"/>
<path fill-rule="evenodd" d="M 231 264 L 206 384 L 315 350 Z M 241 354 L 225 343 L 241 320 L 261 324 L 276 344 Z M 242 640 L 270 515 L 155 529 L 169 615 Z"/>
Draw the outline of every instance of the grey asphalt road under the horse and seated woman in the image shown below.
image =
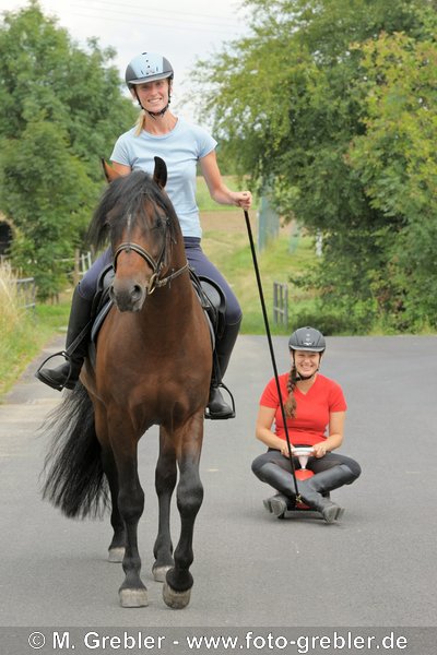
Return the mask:
<path fill-rule="evenodd" d="M 286 343 L 274 338 L 280 371 L 288 366 Z M 2 634 L 17 627 L 430 627 L 436 636 L 436 336 L 328 338 L 322 370 L 342 384 L 349 403 L 342 452 L 363 467 L 354 485 L 333 492 L 346 508 L 333 525 L 312 514 L 277 521 L 264 511 L 270 488 L 250 464 L 262 452 L 253 422 L 272 366 L 264 337 L 239 337 L 226 380 L 237 418 L 205 424 L 194 587 L 180 611 L 164 605 L 151 576 L 157 429 L 140 449 L 146 508 L 139 534 L 150 606 L 127 610 L 118 605 L 121 567 L 106 561 L 108 521 L 69 521 L 40 500 L 46 443 L 37 429 L 60 394 L 33 378 L 35 368 L 0 405 L 0 626 L 9 627 Z M 3 652 L 11 650 L 0 645 Z"/>

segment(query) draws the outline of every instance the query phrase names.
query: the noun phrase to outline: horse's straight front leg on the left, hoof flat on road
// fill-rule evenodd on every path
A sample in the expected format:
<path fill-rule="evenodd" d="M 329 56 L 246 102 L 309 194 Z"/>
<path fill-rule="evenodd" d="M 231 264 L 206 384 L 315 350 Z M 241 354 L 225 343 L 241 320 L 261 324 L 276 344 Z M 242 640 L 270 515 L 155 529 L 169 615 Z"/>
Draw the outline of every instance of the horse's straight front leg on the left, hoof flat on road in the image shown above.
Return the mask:
<path fill-rule="evenodd" d="M 119 588 L 120 604 L 122 607 L 145 607 L 147 590 L 140 577 L 141 559 L 138 550 L 138 523 L 144 510 L 144 492 L 138 477 L 138 441 L 127 432 L 126 427 L 110 441 L 118 472 L 118 509 L 126 528 L 122 560 L 126 577 Z"/>

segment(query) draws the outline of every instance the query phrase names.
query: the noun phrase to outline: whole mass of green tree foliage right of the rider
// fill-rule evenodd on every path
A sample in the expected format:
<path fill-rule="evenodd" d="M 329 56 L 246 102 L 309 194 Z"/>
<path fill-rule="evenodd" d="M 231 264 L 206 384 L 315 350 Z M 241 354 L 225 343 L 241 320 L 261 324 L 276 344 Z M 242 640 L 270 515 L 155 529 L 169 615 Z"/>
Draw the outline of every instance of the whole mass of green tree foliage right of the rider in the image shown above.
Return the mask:
<path fill-rule="evenodd" d="M 323 236 L 306 284 L 327 312 L 355 312 L 363 330 L 436 326 L 435 2 L 245 7 L 252 35 L 194 72 L 227 156 L 269 183 L 285 219 Z"/>

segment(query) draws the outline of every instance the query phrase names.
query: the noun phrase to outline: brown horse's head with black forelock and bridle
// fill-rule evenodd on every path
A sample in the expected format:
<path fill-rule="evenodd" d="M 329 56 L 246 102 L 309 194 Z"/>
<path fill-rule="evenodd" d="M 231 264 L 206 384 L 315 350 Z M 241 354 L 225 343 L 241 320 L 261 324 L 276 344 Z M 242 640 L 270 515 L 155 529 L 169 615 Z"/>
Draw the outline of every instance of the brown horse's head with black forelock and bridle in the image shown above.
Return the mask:
<path fill-rule="evenodd" d="M 104 166 L 109 187 L 94 214 L 91 236 L 97 245 L 109 236 L 115 305 L 120 311 L 140 311 L 147 295 L 186 269 L 179 222 L 164 191 L 167 168 L 158 157 L 153 177 L 140 170 L 119 176 Z M 184 252 L 178 263 L 172 260 L 177 242 Z"/>

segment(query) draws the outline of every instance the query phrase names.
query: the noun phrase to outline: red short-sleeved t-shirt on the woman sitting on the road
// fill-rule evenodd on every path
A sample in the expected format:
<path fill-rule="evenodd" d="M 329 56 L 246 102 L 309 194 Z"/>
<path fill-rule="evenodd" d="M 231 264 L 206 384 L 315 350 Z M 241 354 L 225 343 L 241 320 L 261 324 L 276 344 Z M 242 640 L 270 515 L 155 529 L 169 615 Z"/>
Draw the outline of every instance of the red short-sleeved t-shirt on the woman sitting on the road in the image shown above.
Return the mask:
<path fill-rule="evenodd" d="M 279 377 L 284 404 L 288 397 L 288 377 L 290 373 Z M 296 398 L 296 416 L 295 418 L 287 418 L 286 421 L 291 443 L 294 445 L 315 445 L 315 443 L 320 443 L 328 436 L 326 434 L 326 430 L 329 426 L 331 412 L 345 412 L 347 408 L 340 384 L 318 373 L 308 393 L 302 393 L 297 388 L 293 393 Z M 274 378 L 265 386 L 261 395 L 260 405 L 276 409 L 274 415 L 274 432 L 276 437 L 285 441 L 284 422 L 282 420 Z"/>

